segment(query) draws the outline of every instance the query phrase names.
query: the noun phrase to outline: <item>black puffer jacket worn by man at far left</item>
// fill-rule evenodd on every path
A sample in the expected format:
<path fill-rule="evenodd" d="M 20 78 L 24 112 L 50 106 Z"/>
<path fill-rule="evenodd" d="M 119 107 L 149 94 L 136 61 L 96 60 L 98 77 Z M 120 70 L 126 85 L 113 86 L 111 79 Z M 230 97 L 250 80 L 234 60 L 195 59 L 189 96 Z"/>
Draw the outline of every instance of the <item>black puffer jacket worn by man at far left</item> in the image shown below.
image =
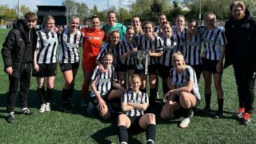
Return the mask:
<path fill-rule="evenodd" d="M 29 30 L 25 20 L 17 20 L 13 23 L 13 30 L 8 33 L 1 51 L 4 60 L 4 68 L 13 67 L 13 77 L 20 74 L 21 65 L 32 62 L 34 49 L 37 44 L 36 30 Z M 32 51 L 27 51 L 28 48 Z"/>

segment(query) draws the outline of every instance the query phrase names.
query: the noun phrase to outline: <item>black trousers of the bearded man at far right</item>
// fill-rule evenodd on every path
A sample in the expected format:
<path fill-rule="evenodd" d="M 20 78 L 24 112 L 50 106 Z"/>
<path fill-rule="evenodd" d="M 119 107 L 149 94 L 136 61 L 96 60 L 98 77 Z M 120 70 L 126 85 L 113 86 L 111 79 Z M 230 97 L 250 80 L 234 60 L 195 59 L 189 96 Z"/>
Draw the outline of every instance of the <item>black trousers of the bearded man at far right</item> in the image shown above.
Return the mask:
<path fill-rule="evenodd" d="M 254 102 L 254 87 L 256 72 L 243 64 L 233 65 L 238 91 L 239 107 L 245 107 L 245 112 L 252 113 Z"/>

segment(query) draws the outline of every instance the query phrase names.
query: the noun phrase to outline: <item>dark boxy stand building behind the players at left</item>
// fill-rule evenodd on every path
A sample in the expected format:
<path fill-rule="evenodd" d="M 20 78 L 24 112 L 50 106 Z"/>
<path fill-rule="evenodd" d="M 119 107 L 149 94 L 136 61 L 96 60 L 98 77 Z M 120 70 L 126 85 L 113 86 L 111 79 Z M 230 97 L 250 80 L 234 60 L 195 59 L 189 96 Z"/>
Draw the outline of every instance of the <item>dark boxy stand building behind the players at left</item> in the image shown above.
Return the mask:
<path fill-rule="evenodd" d="M 67 8 L 65 6 L 37 6 L 37 25 L 42 25 L 44 15 L 51 15 L 55 18 L 56 26 L 67 25 Z"/>

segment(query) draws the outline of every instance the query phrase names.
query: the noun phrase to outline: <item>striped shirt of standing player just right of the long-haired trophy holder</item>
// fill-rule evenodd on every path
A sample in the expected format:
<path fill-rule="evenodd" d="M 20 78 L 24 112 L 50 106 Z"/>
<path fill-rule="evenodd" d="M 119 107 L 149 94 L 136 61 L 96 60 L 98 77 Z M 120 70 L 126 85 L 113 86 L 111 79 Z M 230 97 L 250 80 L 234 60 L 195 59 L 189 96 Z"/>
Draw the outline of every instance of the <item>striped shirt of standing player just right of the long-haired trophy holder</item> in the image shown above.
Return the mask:
<path fill-rule="evenodd" d="M 181 37 L 177 34 L 172 34 L 172 37 L 161 37 L 163 42 L 163 54 L 160 58 L 160 64 L 172 66 L 172 54 L 180 51 Z"/>

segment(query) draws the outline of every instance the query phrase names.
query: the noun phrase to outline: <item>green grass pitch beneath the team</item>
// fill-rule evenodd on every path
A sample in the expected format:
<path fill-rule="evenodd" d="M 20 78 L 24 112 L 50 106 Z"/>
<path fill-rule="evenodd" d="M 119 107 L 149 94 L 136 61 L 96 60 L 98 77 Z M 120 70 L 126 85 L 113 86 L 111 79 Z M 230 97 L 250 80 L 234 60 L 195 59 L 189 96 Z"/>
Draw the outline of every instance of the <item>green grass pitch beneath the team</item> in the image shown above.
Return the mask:
<path fill-rule="evenodd" d="M 7 34 L 8 30 L 0 30 L 1 48 Z M 59 111 L 63 77 L 58 68 L 55 82 L 56 91 L 52 100 L 51 112 L 39 113 L 37 83 L 33 77 L 28 105 L 37 114 L 33 116 L 19 114 L 19 103 L 17 103 L 15 109 L 16 121 L 13 124 L 8 124 L 6 122 L 8 114 L 5 111 L 8 77 L 3 71 L 4 64 L 1 55 L 0 67 L 0 143 L 118 143 L 116 117 L 113 117 L 110 121 L 103 121 L 96 115 L 87 114 L 85 110 L 79 107 L 83 79 L 80 68 L 75 80 L 75 93 L 72 98 L 76 107 L 72 110 L 72 113 Z M 213 114 L 217 110 L 217 96 L 215 91 L 212 91 L 212 113 L 207 115 L 196 114 L 191 119 L 191 124 L 187 129 L 179 129 L 181 119 L 171 121 L 160 119 L 161 100 L 158 100 L 155 143 L 256 143 L 255 117 L 252 116 L 252 124 L 249 126 L 243 126 L 231 117 L 238 106 L 236 84 L 231 67 L 224 70 L 223 89 L 225 95 L 224 117 L 222 119 L 213 118 Z M 214 90 L 214 87 L 212 87 L 212 90 Z M 160 95 L 162 96 L 161 91 L 160 89 Z M 200 79 L 200 93 L 203 98 L 203 78 Z M 204 105 L 203 98 L 199 109 L 203 109 Z M 134 133 L 130 136 L 129 143 L 146 143 L 146 133 Z"/>

